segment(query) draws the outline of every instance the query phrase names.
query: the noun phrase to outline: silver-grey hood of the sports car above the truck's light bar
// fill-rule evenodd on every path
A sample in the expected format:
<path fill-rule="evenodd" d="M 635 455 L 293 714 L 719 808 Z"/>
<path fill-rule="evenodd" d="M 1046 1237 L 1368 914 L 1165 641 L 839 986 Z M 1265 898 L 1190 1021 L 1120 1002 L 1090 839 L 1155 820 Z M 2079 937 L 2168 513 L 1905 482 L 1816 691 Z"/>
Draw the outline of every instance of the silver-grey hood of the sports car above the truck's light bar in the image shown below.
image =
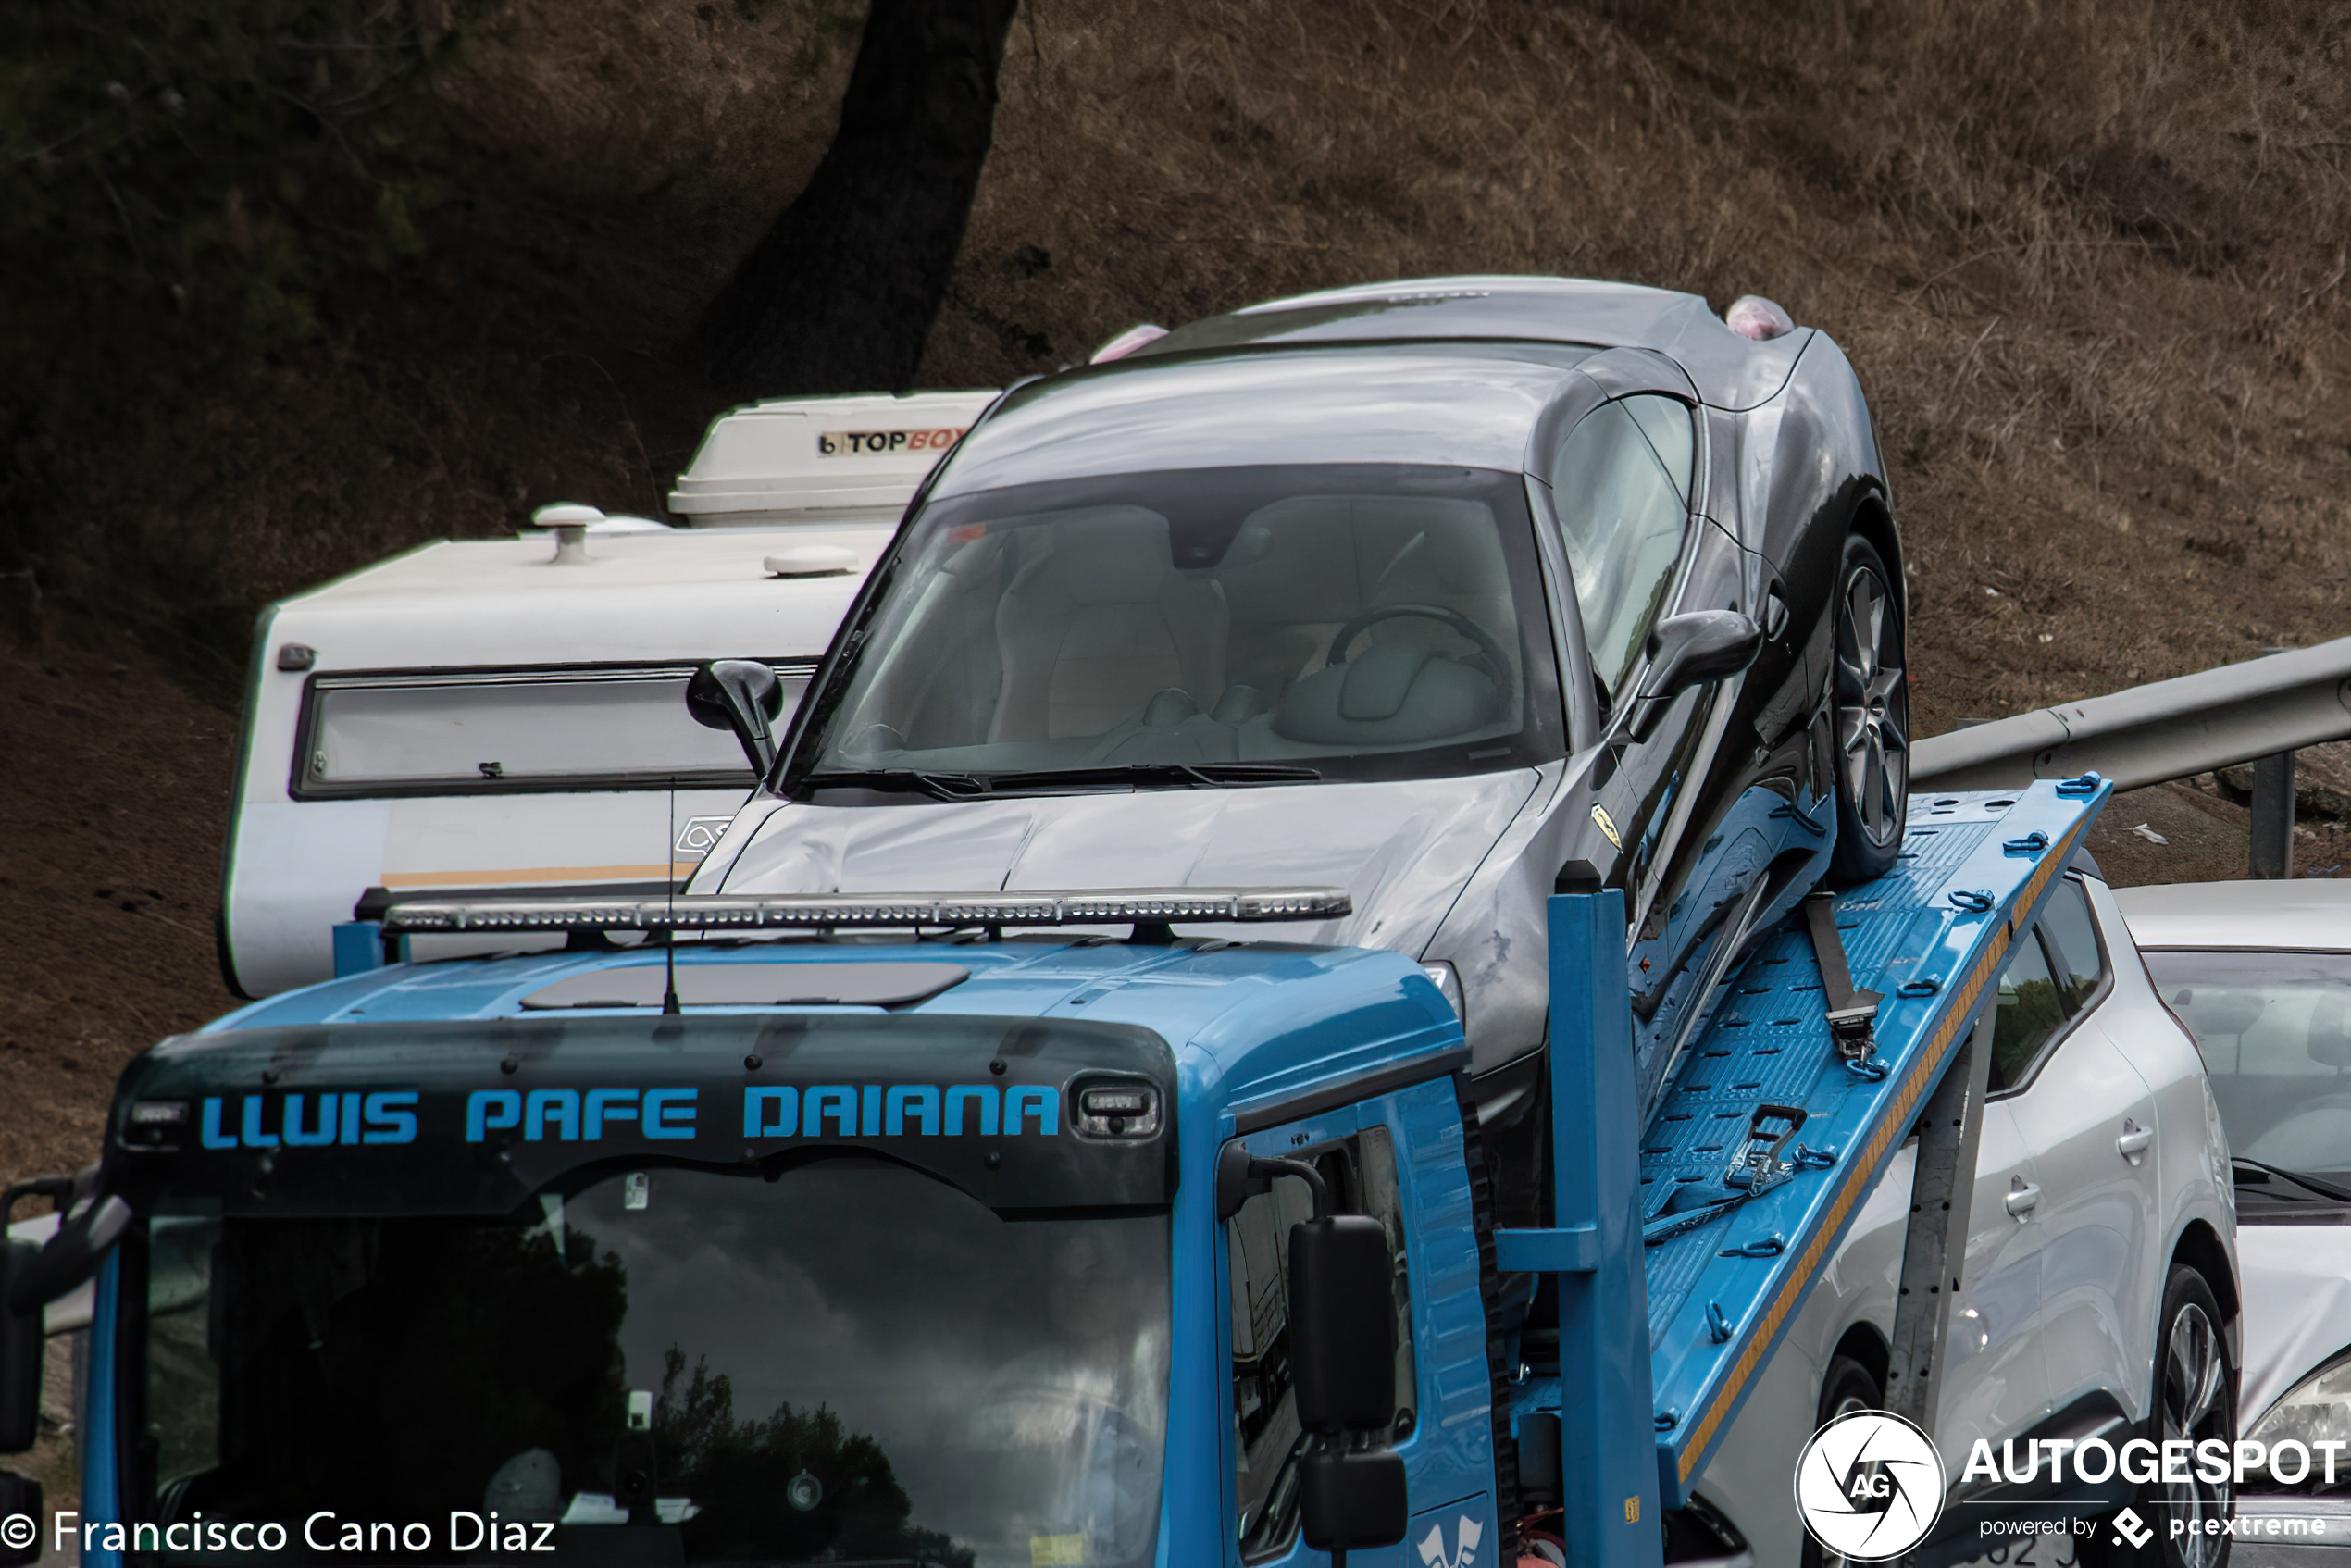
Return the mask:
<path fill-rule="evenodd" d="M 1237 926 L 1230 936 L 1418 954 L 1540 778 L 1516 769 L 905 806 L 783 802 L 750 832 L 724 882 L 696 891 L 1342 886 L 1354 900 L 1345 919 Z"/>

